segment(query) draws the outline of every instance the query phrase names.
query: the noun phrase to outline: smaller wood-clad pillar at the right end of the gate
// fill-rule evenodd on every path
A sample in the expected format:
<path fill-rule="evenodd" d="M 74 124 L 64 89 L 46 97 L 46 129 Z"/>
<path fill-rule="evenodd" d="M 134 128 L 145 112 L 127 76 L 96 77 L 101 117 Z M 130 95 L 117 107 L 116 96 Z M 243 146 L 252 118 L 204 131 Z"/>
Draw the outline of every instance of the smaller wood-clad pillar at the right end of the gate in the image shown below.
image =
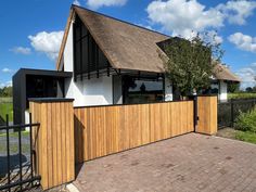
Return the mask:
<path fill-rule="evenodd" d="M 217 132 L 217 97 L 197 98 L 199 123 L 196 132 L 215 135 Z"/>

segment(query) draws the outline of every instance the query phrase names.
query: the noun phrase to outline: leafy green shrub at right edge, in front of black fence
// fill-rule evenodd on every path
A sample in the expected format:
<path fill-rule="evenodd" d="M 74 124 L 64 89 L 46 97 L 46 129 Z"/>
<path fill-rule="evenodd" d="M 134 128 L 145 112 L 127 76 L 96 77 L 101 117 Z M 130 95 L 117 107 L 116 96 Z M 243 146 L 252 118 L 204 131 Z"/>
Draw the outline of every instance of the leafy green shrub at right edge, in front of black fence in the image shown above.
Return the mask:
<path fill-rule="evenodd" d="M 256 108 L 246 113 L 240 113 L 234 121 L 234 128 L 242 131 L 256 132 Z"/>

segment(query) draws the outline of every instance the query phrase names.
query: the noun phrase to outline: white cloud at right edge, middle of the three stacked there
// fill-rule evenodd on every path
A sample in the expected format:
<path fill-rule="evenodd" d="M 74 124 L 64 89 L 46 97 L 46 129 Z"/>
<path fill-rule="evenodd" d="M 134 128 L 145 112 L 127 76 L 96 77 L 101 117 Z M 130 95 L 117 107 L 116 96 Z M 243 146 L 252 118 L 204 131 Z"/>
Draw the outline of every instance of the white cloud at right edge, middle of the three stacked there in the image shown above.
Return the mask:
<path fill-rule="evenodd" d="M 256 37 L 251 37 L 242 33 L 235 33 L 228 37 L 229 41 L 236 46 L 236 48 L 256 53 Z"/>

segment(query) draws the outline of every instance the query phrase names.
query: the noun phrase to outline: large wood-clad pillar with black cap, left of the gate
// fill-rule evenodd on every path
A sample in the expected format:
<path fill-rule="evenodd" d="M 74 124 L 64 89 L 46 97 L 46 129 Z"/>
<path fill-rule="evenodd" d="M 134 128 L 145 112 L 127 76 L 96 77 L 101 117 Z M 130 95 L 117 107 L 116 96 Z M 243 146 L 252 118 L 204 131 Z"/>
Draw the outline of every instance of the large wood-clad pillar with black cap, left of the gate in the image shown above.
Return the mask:
<path fill-rule="evenodd" d="M 34 130 L 37 156 L 36 174 L 41 176 L 43 190 L 75 179 L 75 140 L 73 102 L 30 101 L 33 123 L 40 123 Z"/>

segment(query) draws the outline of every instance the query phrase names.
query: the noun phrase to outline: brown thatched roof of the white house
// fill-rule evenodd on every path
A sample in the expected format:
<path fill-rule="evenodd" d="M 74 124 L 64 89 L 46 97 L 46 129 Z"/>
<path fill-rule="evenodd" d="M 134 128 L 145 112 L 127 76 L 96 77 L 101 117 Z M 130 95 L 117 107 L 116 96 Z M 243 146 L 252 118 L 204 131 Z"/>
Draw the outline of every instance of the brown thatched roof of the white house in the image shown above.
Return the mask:
<path fill-rule="evenodd" d="M 76 14 L 86 25 L 113 68 L 164 73 L 164 63 L 159 55 L 165 53 L 157 42 L 169 39 L 169 36 L 76 5 L 72 7 L 67 21 L 56 63 L 57 69 L 61 69 L 60 64 L 71 23 Z M 225 74 L 228 73 L 222 73 L 219 77 L 222 79 Z M 218 78 L 217 75 L 216 77 Z M 229 77 L 227 76 L 227 80 Z"/>

